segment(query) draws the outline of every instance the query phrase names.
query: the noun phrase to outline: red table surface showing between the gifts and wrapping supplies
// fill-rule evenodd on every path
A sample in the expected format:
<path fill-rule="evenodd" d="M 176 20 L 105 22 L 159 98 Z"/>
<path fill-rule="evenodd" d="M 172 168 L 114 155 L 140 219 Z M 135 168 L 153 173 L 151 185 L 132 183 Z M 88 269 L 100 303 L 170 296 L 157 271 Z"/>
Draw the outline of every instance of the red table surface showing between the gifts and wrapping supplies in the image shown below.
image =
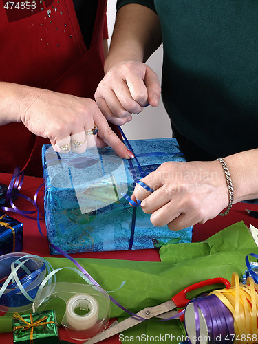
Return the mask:
<path fill-rule="evenodd" d="M 11 174 L 0 173 L 0 182 L 3 184 L 9 184 L 12 178 Z M 43 178 L 25 177 L 23 186 L 21 188 L 21 193 L 33 199 L 36 189 L 43 184 Z M 43 188 L 39 192 L 39 200 L 41 200 L 41 207 L 43 207 Z M 14 202 L 17 208 L 25 211 L 34 211 L 34 207 L 30 202 L 25 201 L 23 198 L 18 197 Z M 235 204 L 230 211 L 230 213 L 224 217 L 217 216 L 215 219 L 211 219 L 206 224 L 197 224 L 193 227 L 193 241 L 204 241 L 211 235 L 217 233 L 219 230 L 239 222 L 244 221 L 246 226 L 252 224 L 258 227 L 258 219 L 250 217 L 246 213 L 246 208 L 258 211 L 258 205 L 255 204 Z M 41 234 L 39 233 L 36 221 L 32 219 L 27 219 L 19 213 L 8 213 L 8 215 L 14 217 L 15 219 L 23 222 L 23 252 L 31 253 L 34 255 L 39 255 L 41 257 L 50 257 L 50 252 L 48 250 L 47 241 L 43 240 Z M 45 237 L 45 223 L 41 221 L 41 230 L 43 231 Z M 61 257 L 57 256 L 57 257 Z M 158 254 L 158 249 L 148 249 L 148 250 L 131 250 L 131 251 L 116 251 L 116 252 L 88 252 L 72 255 L 74 258 L 101 258 L 101 259 L 128 259 L 128 260 L 138 260 L 138 261 L 160 261 L 160 256 Z M 1 315 L 1 312 L 0 312 Z M 67 331 L 61 328 L 60 331 L 61 339 L 69 341 L 71 343 L 81 343 L 80 341 L 73 341 L 67 336 Z M 11 344 L 12 333 L 0 334 L 1 344 Z M 120 343 L 118 340 L 118 335 L 105 340 L 103 344 L 108 343 Z"/>

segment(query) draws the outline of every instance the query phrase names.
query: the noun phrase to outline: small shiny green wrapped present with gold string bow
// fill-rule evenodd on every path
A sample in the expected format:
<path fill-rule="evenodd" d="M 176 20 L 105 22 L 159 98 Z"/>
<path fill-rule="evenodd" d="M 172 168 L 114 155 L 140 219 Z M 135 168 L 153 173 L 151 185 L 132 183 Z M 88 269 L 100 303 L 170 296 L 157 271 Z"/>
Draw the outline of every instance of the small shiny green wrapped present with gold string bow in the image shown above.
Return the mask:
<path fill-rule="evenodd" d="M 12 319 L 14 343 L 60 344 L 54 310 L 19 315 Z"/>

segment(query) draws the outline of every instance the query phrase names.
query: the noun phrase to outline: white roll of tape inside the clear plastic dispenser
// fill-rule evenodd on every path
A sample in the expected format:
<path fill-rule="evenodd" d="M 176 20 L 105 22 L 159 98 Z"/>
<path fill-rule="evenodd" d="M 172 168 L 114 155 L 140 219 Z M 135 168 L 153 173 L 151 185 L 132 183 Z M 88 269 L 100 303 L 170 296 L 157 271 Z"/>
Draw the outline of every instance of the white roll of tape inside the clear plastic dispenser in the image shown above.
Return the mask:
<path fill-rule="evenodd" d="M 85 315 L 74 312 L 76 308 L 89 310 Z M 98 321 L 98 302 L 88 294 L 76 294 L 66 304 L 67 324 L 74 330 L 88 330 L 94 327 Z"/>

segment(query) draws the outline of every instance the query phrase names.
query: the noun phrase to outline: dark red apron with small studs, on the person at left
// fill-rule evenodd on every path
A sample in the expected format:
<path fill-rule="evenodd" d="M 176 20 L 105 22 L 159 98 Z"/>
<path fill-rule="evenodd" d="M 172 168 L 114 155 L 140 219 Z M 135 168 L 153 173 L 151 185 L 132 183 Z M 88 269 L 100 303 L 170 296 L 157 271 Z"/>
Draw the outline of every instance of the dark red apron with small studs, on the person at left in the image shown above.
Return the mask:
<path fill-rule="evenodd" d="M 19 8 L 12 9 L 11 2 L 7 9 L 7 1 L 0 1 L 0 80 L 94 98 L 104 76 L 107 0 L 98 0 L 89 50 L 72 0 L 36 0 L 36 6 L 19 2 Z M 22 8 L 26 5 L 28 9 Z M 49 140 L 30 133 L 21 123 L 0 130 L 0 171 L 12 173 L 20 166 L 26 175 L 42 175 L 41 147 Z"/>

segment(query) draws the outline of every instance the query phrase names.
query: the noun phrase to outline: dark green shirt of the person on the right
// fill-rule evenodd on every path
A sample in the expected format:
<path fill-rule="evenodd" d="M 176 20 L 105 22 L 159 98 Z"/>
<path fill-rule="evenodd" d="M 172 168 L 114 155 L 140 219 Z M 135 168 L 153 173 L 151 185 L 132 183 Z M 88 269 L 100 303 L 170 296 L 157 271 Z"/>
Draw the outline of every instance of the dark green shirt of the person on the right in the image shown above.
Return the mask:
<path fill-rule="evenodd" d="M 121 0 L 160 18 L 162 99 L 189 160 L 258 147 L 258 1 Z"/>

